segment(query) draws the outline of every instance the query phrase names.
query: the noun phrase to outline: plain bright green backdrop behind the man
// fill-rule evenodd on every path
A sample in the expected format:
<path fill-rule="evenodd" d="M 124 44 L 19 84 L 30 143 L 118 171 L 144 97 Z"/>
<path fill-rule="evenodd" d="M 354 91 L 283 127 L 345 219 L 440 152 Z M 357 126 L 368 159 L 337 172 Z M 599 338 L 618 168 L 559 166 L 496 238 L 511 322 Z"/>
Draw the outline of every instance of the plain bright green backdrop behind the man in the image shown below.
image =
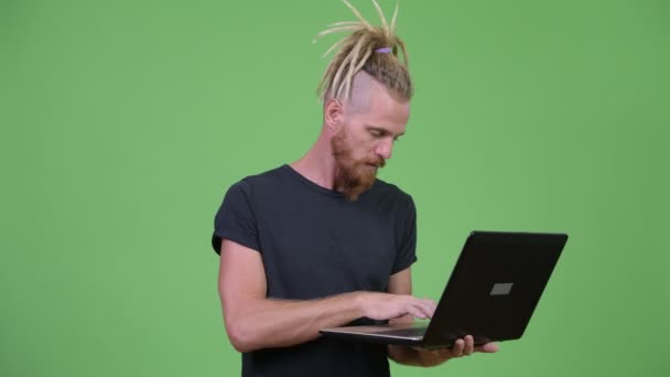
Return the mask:
<path fill-rule="evenodd" d="M 368 1 L 354 1 L 376 20 Z M 571 238 L 521 341 L 396 376 L 667 376 L 670 3 L 409 1 L 381 172 L 417 295 L 472 229 Z M 391 13 L 393 3 L 382 2 Z M 0 1 L 0 375 L 239 374 L 213 216 L 315 140 L 338 1 Z"/>

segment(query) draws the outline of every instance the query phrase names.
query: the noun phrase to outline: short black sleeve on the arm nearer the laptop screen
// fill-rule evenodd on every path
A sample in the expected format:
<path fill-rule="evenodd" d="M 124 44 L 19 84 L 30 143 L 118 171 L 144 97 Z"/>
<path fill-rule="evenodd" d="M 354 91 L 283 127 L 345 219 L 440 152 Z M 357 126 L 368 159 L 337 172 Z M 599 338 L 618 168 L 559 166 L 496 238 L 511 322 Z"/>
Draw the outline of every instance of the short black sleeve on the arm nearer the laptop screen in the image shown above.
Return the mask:
<path fill-rule="evenodd" d="M 396 214 L 396 260 L 391 273 L 400 272 L 417 261 L 417 207 L 412 197 Z"/>

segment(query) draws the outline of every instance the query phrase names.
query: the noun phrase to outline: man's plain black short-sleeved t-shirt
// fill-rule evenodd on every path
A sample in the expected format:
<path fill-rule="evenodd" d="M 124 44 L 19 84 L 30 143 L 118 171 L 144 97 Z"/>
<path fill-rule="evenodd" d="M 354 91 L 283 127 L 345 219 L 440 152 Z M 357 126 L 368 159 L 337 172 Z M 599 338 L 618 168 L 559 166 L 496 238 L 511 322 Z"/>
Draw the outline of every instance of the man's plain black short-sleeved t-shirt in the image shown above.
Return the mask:
<path fill-rule="evenodd" d="M 216 252 L 223 238 L 261 254 L 273 299 L 383 292 L 391 274 L 417 260 L 415 208 L 408 194 L 377 180 L 347 202 L 289 165 L 228 190 L 215 217 Z M 242 354 L 242 375 L 388 376 L 389 365 L 383 345 L 321 337 Z"/>

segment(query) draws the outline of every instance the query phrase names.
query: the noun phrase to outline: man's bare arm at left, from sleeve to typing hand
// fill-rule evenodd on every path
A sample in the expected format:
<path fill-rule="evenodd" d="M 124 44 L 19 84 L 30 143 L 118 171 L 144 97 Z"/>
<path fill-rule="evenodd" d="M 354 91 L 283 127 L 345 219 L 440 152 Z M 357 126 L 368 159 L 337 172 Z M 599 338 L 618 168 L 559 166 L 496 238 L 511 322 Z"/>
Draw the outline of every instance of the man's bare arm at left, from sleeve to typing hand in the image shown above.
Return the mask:
<path fill-rule="evenodd" d="M 228 239 L 221 243 L 218 289 L 226 331 L 239 352 L 309 342 L 321 328 L 361 316 L 386 320 L 432 313 L 426 300 L 388 293 L 352 292 L 309 301 L 268 299 L 260 252 Z"/>

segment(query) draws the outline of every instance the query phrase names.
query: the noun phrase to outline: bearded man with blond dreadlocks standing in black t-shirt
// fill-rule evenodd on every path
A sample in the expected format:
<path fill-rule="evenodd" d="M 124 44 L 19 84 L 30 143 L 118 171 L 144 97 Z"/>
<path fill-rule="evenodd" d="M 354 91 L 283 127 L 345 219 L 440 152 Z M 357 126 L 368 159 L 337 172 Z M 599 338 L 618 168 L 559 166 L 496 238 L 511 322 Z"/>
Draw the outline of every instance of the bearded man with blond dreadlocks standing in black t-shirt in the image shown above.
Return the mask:
<path fill-rule="evenodd" d="M 415 208 L 376 179 L 406 131 L 412 83 L 402 41 L 377 2 L 382 26 L 359 21 L 320 35 L 353 33 L 320 85 L 322 131 L 300 160 L 233 185 L 215 218 L 219 292 L 245 376 L 388 376 L 388 358 L 432 366 L 495 344 L 428 352 L 342 342 L 318 330 L 430 317 L 431 300 L 411 295 Z M 403 60 L 398 57 L 402 52 Z"/>

